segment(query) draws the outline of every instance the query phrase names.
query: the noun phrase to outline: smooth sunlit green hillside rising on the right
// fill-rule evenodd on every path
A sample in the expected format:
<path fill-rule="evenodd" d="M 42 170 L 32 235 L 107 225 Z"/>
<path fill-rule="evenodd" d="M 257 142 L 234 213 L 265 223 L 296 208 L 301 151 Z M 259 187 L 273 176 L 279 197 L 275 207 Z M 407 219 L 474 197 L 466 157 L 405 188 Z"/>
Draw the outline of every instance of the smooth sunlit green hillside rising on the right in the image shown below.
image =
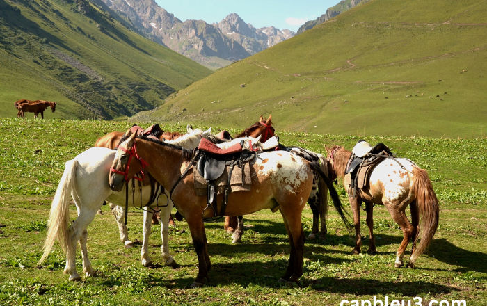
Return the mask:
<path fill-rule="evenodd" d="M 193 83 L 150 118 L 235 126 L 272 113 L 280 130 L 482 136 L 486 10 L 372 0 Z"/>

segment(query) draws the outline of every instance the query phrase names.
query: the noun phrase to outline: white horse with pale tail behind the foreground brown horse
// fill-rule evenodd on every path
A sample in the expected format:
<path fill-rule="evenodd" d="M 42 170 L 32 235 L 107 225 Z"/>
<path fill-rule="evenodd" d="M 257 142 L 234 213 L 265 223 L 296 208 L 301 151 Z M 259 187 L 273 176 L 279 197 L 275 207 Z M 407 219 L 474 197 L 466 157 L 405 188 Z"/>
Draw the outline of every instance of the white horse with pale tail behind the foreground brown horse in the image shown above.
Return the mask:
<path fill-rule="evenodd" d="M 177 140 L 173 140 L 172 143 L 176 145 L 186 144 L 187 146 L 194 147 L 202 137 L 209 136 L 210 132 L 211 128 L 204 132 L 194 130 L 191 131 L 191 134 L 186 134 Z M 70 280 L 80 280 L 81 278 L 76 271 L 74 262 L 76 242 L 78 240 L 83 257 L 83 272 L 86 276 L 93 275 L 94 273 L 86 250 L 86 240 L 88 237 L 86 227 L 93 221 L 95 214 L 102 207 L 104 200 L 125 206 L 125 191 L 113 192 L 108 184 L 110 167 L 113 163 L 115 152 L 115 150 L 104 147 L 92 147 L 65 163 L 63 177 L 61 177 L 51 204 L 48 223 L 49 230 L 44 244 L 44 254 L 39 264 L 42 264 L 42 261 L 49 255 L 56 236 L 59 236 L 67 257 L 64 272 L 70 274 Z M 78 218 L 70 226 L 69 206 L 71 197 L 77 207 Z M 140 207 L 141 203 L 147 203 L 149 198 L 150 186 L 143 186 L 141 193 L 135 193 L 134 198 L 129 197 L 129 205 Z M 177 264 L 173 257 L 170 256 L 168 246 L 168 221 L 171 209 L 173 209 L 173 202 L 170 200 L 168 200 L 167 207 L 161 208 L 161 250 L 164 263 L 174 268 Z M 144 211 L 143 244 L 141 251 L 141 263 L 143 266 L 150 266 L 152 264 L 148 252 L 148 241 L 152 225 L 151 220 L 152 212 Z"/>

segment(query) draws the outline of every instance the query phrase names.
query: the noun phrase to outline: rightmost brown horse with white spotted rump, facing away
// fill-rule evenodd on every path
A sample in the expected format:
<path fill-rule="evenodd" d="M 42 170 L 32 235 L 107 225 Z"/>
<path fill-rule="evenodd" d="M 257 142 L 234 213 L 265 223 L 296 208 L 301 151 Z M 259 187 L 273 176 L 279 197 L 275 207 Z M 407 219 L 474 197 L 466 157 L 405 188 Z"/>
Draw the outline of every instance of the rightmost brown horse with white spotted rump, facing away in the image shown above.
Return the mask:
<path fill-rule="evenodd" d="M 326 147 L 326 146 L 325 146 Z M 360 253 L 362 238 L 360 236 L 360 204 L 365 202 L 367 210 L 367 226 L 369 227 L 369 252 L 376 253 L 376 239 L 374 238 L 374 220 L 372 220 L 374 204 L 382 204 L 388 209 L 390 215 L 401 227 L 404 239 L 397 250 L 395 266 L 397 268 L 404 265 L 404 252 L 413 241 L 413 249 L 409 259 L 408 267 L 414 268 L 415 261 L 433 239 L 433 235 L 438 227 L 440 217 L 440 207 L 435 191 L 431 185 L 426 170 L 419 168 L 409 159 L 384 159 L 375 166 L 370 175 L 367 186 L 363 189 L 358 188 L 356 195 L 351 195 L 349 186 L 351 175 L 345 175 L 346 165 L 351 156 L 351 152 L 344 147 L 326 147 L 328 161 L 333 167 L 333 179 L 335 177 L 344 178 L 343 186 L 349 193 L 349 201 L 353 211 L 353 223 L 356 230 L 356 246 L 353 253 Z M 399 163 L 402 165 L 399 166 Z M 411 220 L 406 217 L 407 207 L 411 210 Z M 418 225 L 421 225 L 420 228 Z M 417 239 L 422 232 L 421 240 L 418 245 Z"/>

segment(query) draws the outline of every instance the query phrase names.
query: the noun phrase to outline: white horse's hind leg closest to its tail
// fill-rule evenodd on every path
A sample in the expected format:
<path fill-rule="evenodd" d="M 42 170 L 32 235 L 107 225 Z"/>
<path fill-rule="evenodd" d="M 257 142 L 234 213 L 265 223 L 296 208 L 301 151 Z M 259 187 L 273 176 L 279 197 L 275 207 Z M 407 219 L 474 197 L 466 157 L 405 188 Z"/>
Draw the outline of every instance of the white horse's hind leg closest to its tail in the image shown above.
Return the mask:
<path fill-rule="evenodd" d="M 86 227 L 88 227 L 91 221 L 93 221 L 93 218 L 95 218 L 97 210 L 98 208 L 96 209 L 78 208 L 79 211 L 78 218 L 76 218 L 76 220 L 68 230 L 69 238 L 67 239 L 66 267 L 64 268 L 64 273 L 70 275 L 71 281 L 81 280 L 81 277 L 76 271 L 76 243 L 81 238 L 83 232 L 86 231 Z M 86 232 L 86 235 L 88 236 L 88 232 Z M 87 236 L 85 238 L 87 238 Z M 83 240 L 85 238 L 81 240 L 81 243 L 83 243 Z M 86 245 L 86 243 L 83 244 Z M 88 259 L 87 253 L 86 253 L 86 258 Z"/>

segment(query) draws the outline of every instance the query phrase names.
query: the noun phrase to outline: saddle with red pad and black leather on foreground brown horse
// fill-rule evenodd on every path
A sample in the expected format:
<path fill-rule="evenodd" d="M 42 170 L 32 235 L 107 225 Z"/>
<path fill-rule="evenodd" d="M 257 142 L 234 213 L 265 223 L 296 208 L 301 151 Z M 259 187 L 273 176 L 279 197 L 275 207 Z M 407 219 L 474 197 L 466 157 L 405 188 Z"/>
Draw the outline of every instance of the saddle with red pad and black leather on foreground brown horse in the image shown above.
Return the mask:
<path fill-rule="evenodd" d="M 211 141 L 202 138 L 200 145 L 198 145 L 196 154 L 196 168 L 198 174 L 205 179 L 207 183 L 207 207 L 203 210 L 202 216 L 205 214 L 207 209 L 213 210 L 214 218 L 203 218 L 205 221 L 214 221 L 216 217 L 222 217 L 225 215 L 225 209 L 228 204 L 228 195 L 232 192 L 232 172 L 234 167 L 237 166 L 241 170 L 246 163 L 249 163 L 255 159 L 255 152 L 247 151 L 242 149 L 243 141 L 232 145 L 227 149 L 221 149 L 216 146 Z M 227 171 L 225 171 L 227 170 Z M 193 171 L 195 172 L 195 171 Z M 216 204 L 216 195 L 218 193 L 216 182 L 218 179 L 224 177 L 226 178 L 225 188 L 223 190 L 223 201 L 221 203 L 221 209 L 217 213 L 218 208 Z M 241 174 L 244 175 L 244 171 Z M 197 174 L 195 173 L 195 185 Z M 250 179 L 250 175 L 248 175 Z M 244 182 L 244 180 L 242 181 Z M 196 186 L 195 186 L 196 187 Z"/>

